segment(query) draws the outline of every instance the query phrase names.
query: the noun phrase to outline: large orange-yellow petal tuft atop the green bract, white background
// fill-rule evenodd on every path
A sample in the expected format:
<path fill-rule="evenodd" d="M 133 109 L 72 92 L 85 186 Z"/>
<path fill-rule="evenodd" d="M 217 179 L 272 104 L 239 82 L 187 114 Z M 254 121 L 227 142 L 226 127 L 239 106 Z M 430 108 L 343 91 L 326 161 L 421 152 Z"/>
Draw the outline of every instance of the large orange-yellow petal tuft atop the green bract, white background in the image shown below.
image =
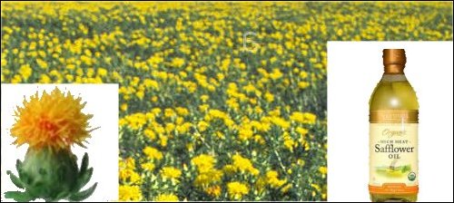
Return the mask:
<path fill-rule="evenodd" d="M 11 134 L 16 138 L 15 144 L 40 149 L 51 147 L 55 150 L 69 149 L 73 143 L 84 146 L 82 143 L 90 137 L 87 130 L 88 120 L 93 115 L 84 114 L 85 103 L 81 98 L 67 92 L 64 94 L 55 88 L 51 94 L 43 92 L 41 98 L 38 92 L 24 100 L 24 107 L 17 107 L 15 111 L 16 122 L 11 129 Z"/>

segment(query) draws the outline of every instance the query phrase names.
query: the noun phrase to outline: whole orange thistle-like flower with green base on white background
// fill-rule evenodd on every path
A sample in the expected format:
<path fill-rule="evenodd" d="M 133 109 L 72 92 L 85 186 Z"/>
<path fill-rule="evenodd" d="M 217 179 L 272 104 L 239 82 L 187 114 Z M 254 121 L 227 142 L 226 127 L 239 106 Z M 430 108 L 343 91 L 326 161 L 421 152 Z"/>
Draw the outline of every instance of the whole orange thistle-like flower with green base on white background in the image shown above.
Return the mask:
<path fill-rule="evenodd" d="M 17 107 L 11 135 L 16 139 L 14 144 L 28 144 L 28 150 L 24 162 L 16 161 L 18 177 L 10 170 L 6 173 L 17 188 L 25 191 L 5 192 L 5 198 L 80 201 L 93 194 L 97 183 L 80 191 L 93 174 L 87 153 L 78 169 L 71 151 L 74 143 L 84 147 L 85 139 L 94 131 L 88 130 L 93 115 L 82 112 L 86 102 L 81 100 L 55 88 L 50 94 L 44 91 L 41 97 L 36 92 L 30 101 L 24 99 L 23 107 Z"/>

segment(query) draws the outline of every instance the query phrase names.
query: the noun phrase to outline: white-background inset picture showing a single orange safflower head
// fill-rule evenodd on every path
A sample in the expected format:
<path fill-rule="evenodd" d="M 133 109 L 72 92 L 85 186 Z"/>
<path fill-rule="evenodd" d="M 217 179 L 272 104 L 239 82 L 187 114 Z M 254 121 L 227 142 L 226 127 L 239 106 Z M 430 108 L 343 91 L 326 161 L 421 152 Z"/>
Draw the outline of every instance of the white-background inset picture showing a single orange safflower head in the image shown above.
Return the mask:
<path fill-rule="evenodd" d="M 2 201 L 118 199 L 118 84 L 2 84 Z"/>

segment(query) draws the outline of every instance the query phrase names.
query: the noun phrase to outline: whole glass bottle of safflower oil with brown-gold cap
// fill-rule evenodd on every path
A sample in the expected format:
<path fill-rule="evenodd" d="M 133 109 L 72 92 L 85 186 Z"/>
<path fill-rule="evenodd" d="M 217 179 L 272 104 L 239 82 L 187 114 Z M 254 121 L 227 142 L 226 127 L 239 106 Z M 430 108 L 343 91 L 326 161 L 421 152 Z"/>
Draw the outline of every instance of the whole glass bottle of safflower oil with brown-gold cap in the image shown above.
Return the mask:
<path fill-rule="evenodd" d="M 416 92 L 403 69 L 403 49 L 383 50 L 384 73 L 370 97 L 370 200 L 416 201 L 418 114 Z"/>

